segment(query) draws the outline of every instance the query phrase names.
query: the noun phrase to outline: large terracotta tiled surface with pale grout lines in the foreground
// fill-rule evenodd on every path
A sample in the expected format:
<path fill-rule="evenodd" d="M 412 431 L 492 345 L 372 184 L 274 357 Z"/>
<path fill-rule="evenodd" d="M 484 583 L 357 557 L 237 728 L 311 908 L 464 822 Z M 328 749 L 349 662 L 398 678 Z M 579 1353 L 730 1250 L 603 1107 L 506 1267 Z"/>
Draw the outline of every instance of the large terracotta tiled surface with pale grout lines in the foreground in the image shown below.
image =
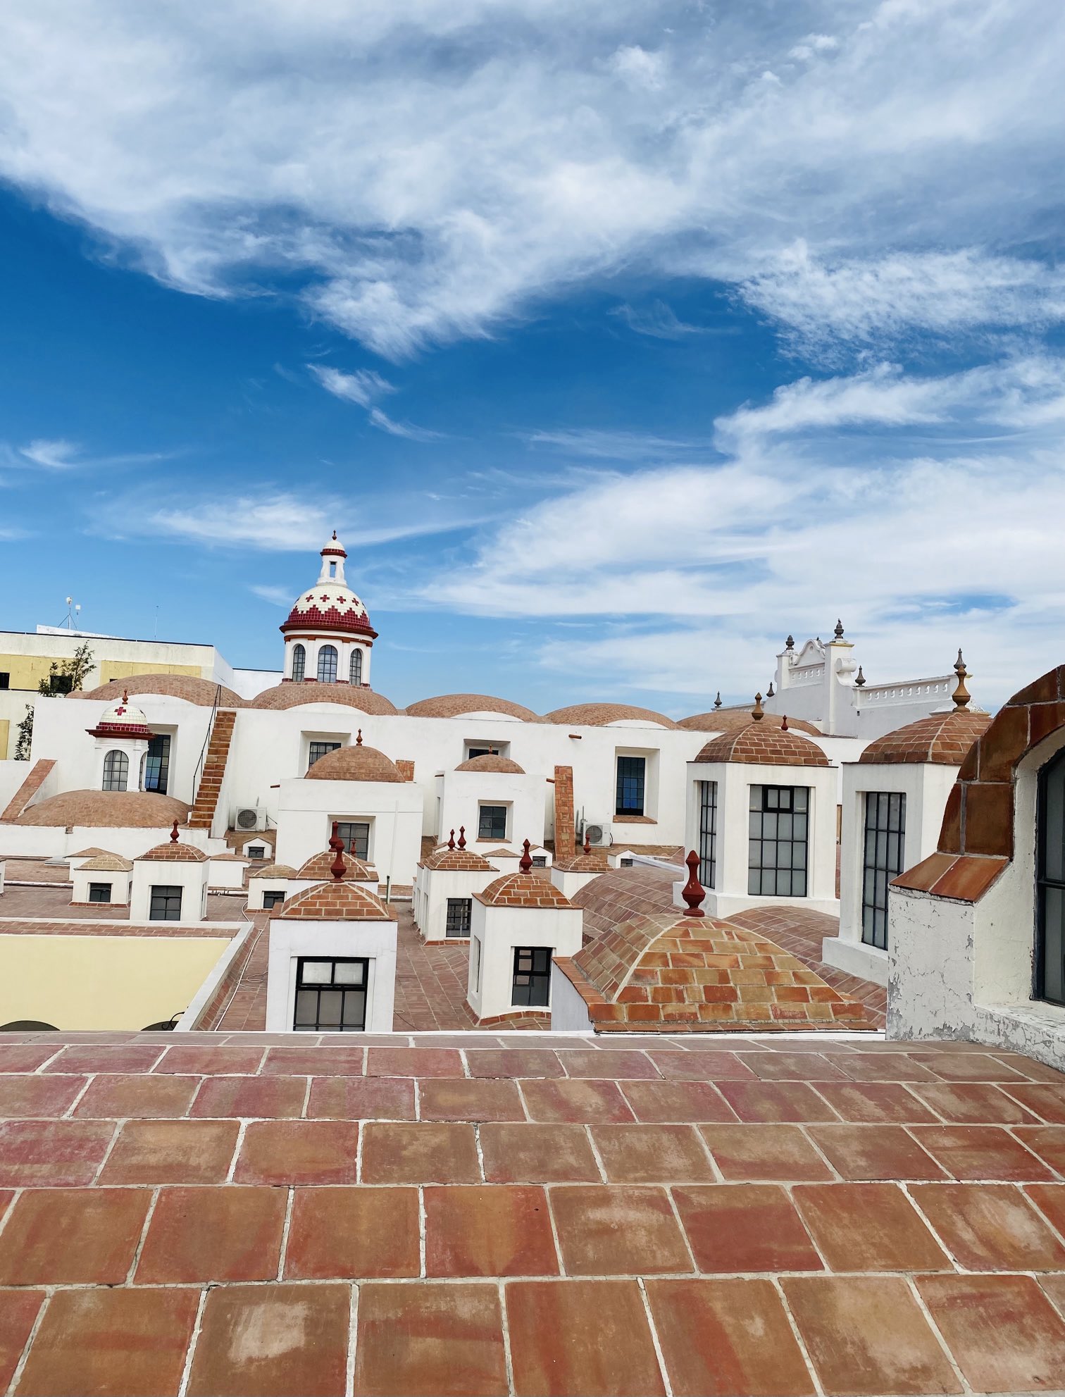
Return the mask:
<path fill-rule="evenodd" d="M 858 1035 L 3 1035 L 0 1391 L 1059 1390 L 1064 1106 Z"/>

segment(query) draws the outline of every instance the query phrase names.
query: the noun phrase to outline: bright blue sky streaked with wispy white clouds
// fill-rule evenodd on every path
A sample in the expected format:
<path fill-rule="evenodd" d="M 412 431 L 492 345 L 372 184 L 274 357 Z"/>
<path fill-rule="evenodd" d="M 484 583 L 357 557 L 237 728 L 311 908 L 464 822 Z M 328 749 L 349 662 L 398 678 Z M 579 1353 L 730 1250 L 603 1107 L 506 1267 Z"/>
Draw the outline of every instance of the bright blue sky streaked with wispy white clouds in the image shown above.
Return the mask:
<path fill-rule="evenodd" d="M 0 31 L 0 626 L 277 665 L 335 525 L 397 703 L 1062 659 L 1061 6 Z"/>

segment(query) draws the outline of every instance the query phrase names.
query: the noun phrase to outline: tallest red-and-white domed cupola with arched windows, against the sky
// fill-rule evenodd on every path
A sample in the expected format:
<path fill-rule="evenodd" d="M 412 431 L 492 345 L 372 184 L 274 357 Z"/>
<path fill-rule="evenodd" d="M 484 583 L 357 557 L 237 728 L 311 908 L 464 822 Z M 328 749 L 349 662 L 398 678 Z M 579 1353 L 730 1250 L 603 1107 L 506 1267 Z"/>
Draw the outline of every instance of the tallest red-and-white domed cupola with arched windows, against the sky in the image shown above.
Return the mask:
<path fill-rule="evenodd" d="M 377 631 L 344 577 L 344 545 L 333 538 L 321 549 L 321 571 L 281 626 L 285 682 L 362 685 L 370 682 L 370 648 Z"/>

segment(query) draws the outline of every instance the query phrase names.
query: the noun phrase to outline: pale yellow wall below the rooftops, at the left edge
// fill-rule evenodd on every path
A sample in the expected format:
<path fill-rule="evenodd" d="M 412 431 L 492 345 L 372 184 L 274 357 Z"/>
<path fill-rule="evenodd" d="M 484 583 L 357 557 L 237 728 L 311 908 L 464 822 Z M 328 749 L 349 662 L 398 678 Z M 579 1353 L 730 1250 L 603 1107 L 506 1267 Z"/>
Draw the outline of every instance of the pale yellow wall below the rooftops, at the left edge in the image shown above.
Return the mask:
<path fill-rule="evenodd" d="M 147 1028 L 183 1013 L 228 939 L 0 936 L 0 1024 Z"/>

